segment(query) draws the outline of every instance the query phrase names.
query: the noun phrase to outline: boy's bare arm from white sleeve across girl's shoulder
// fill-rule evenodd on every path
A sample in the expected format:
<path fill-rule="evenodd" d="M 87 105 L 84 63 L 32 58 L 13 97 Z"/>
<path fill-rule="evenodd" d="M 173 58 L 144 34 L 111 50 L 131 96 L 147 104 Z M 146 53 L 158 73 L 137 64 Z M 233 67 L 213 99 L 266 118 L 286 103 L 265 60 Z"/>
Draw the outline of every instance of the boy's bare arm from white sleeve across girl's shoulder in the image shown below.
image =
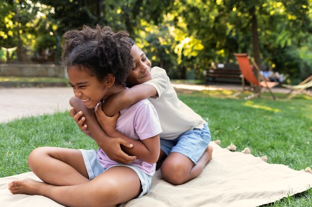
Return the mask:
<path fill-rule="evenodd" d="M 156 89 L 149 84 L 139 84 L 128 90 L 111 95 L 103 103 L 103 111 L 107 116 L 114 116 L 122 109 L 143 99 L 157 95 Z"/>

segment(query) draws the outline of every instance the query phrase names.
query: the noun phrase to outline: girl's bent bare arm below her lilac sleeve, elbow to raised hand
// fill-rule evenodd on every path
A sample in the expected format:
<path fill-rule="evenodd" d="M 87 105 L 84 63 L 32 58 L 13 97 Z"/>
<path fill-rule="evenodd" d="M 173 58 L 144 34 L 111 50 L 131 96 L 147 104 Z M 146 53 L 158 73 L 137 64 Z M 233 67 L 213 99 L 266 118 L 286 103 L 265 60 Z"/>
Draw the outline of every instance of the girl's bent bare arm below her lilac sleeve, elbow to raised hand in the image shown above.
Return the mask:
<path fill-rule="evenodd" d="M 133 143 L 132 148 L 122 146 L 122 149 L 127 154 L 135 155 L 138 159 L 150 163 L 155 163 L 158 160 L 160 152 L 159 135 L 143 140 L 135 140 L 124 136 L 123 134 L 116 131 L 116 122 L 119 117 L 119 113 L 113 117 L 106 116 L 102 111 L 101 103 L 97 105 L 95 109 L 95 115 L 98 123 L 101 125 L 102 129 L 104 129 L 108 136 L 123 138 L 126 141 Z"/>

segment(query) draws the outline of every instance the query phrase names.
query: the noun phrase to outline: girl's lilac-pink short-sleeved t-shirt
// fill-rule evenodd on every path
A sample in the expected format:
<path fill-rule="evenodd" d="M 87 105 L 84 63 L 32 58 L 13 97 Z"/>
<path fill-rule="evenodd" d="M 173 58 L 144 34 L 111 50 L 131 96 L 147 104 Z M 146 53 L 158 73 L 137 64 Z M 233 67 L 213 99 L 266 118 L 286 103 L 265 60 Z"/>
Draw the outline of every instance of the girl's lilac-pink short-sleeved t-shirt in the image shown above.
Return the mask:
<path fill-rule="evenodd" d="M 136 140 L 151 138 L 162 132 L 157 112 L 148 99 L 139 101 L 120 111 L 116 130 Z M 103 168 L 109 168 L 118 164 L 111 160 L 101 148 L 98 149 L 98 159 Z M 149 175 L 155 174 L 156 163 L 148 163 L 136 159 L 130 164 L 139 167 Z"/>

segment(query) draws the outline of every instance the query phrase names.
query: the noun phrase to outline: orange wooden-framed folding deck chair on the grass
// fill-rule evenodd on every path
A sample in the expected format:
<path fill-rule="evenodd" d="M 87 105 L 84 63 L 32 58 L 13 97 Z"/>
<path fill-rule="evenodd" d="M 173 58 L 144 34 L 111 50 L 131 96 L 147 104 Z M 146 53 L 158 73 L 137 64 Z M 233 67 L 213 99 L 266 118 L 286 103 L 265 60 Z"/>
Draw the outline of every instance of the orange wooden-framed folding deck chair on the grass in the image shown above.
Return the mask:
<path fill-rule="evenodd" d="M 260 69 L 257 66 L 257 64 L 255 63 L 253 58 L 250 58 L 250 56 L 248 56 L 247 53 L 234 53 L 236 60 L 238 62 L 238 66 L 239 69 L 242 72 L 242 86 L 243 86 L 243 90 L 242 92 L 245 91 L 245 79 L 250 83 L 250 89 L 253 89 L 251 91 L 254 91 L 254 93 L 248 97 L 246 97 L 245 99 L 252 99 L 252 98 L 256 98 L 256 97 L 260 97 L 260 94 L 262 93 L 262 88 L 266 88 L 269 90 L 272 98 L 275 100 L 276 97 L 273 94 L 271 88 L 275 87 L 276 85 L 278 85 L 278 82 L 272 82 L 272 81 L 266 81 L 265 78 L 261 75 L 260 73 Z M 256 69 L 256 72 L 258 74 L 258 78 L 256 77 L 256 75 L 253 72 L 252 66 L 250 65 L 249 59 L 252 61 L 254 68 Z M 256 87 L 260 86 L 260 91 L 256 90 Z"/>

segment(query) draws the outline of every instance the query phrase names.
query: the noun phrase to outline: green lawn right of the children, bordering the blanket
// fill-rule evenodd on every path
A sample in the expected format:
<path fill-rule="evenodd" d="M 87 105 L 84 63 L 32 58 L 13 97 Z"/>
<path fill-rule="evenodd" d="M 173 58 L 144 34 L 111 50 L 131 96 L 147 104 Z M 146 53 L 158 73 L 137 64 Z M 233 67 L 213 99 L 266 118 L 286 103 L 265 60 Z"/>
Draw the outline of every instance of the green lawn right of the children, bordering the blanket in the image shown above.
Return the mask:
<path fill-rule="evenodd" d="M 245 101 L 230 98 L 232 94 L 227 90 L 204 91 L 179 97 L 209 123 L 212 140 L 220 139 L 222 147 L 234 143 L 237 151 L 249 147 L 254 156 L 266 155 L 268 163 L 295 170 L 312 168 L 311 98 L 274 101 L 264 94 L 263 98 Z M 310 207 L 312 189 L 265 206 Z"/>

